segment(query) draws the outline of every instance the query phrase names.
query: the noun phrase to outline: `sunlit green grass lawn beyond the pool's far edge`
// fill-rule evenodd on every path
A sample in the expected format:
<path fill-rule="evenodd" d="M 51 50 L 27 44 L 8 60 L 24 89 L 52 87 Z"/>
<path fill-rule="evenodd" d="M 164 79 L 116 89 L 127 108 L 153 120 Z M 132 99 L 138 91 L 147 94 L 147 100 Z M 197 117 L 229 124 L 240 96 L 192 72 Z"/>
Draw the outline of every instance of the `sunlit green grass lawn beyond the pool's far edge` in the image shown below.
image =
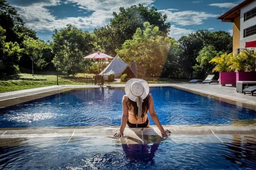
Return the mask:
<path fill-rule="evenodd" d="M 93 77 L 95 74 L 78 73 L 75 78 L 59 75 L 59 85 L 74 85 L 74 84 L 92 84 L 90 80 L 85 77 Z M 177 82 L 172 79 L 149 78 L 146 79 L 148 83 L 173 83 Z M 179 80 L 180 81 L 180 80 Z M 110 84 L 117 84 L 118 82 L 110 82 Z M 125 82 L 119 82 L 124 84 Z M 57 84 L 57 75 L 54 72 L 46 72 L 42 74 L 19 73 L 11 77 L 0 78 L 0 92 L 31 89 L 38 87 L 53 86 Z"/>

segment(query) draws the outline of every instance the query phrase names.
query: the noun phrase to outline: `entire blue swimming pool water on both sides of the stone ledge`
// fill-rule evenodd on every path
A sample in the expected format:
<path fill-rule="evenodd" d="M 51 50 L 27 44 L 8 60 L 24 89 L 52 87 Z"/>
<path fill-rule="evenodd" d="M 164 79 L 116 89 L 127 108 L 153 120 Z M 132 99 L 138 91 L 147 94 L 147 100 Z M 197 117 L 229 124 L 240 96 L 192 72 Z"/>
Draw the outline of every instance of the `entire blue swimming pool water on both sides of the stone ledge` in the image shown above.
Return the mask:
<path fill-rule="evenodd" d="M 162 124 L 231 124 L 255 118 L 250 109 L 175 88 L 153 87 L 150 93 Z M 75 136 L 75 130 L 58 137 L 25 133 L 1 138 L 17 127 L 33 132 L 31 127 L 75 126 L 78 131 L 119 126 L 123 95 L 122 88 L 74 89 L 0 109 L 0 169 L 256 169 L 255 134 L 143 135 L 143 143 L 137 144 L 113 138 L 114 133 Z"/>

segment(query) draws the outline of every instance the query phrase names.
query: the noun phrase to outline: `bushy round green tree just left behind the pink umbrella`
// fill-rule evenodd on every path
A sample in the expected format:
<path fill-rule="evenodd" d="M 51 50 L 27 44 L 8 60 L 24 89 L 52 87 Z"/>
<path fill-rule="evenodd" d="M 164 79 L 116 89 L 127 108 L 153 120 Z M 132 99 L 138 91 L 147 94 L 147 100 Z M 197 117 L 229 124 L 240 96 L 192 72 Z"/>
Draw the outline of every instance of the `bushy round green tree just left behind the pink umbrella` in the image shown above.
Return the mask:
<path fill-rule="evenodd" d="M 93 52 L 94 47 L 94 37 L 89 32 L 83 32 L 68 24 L 67 28 L 59 32 L 55 30 L 52 43 L 55 56 L 52 62 L 55 66 L 59 63 L 58 68 L 63 74 L 74 77 L 84 66 L 83 56 Z"/>

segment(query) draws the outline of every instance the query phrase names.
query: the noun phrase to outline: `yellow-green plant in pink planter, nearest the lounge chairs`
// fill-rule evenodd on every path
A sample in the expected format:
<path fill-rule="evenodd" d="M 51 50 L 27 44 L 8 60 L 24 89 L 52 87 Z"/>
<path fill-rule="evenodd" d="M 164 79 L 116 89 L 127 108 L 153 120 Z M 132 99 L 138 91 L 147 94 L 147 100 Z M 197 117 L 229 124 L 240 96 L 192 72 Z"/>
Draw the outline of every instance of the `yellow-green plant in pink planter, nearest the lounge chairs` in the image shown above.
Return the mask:
<path fill-rule="evenodd" d="M 212 58 L 210 63 L 215 64 L 212 72 L 219 72 L 219 82 L 221 86 L 225 86 L 226 84 L 232 84 L 235 86 L 236 84 L 236 73 L 234 72 L 233 65 L 233 55 L 232 53 L 224 53 L 220 56 Z"/>

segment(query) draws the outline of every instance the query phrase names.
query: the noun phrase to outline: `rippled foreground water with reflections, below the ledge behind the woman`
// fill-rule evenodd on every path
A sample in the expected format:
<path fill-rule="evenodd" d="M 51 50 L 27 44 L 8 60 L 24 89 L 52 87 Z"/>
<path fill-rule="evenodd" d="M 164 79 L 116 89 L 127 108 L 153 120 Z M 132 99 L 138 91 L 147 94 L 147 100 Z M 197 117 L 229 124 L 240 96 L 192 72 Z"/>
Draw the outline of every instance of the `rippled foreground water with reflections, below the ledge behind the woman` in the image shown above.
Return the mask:
<path fill-rule="evenodd" d="M 0 147 L 0 169 L 256 168 L 255 135 L 219 137 L 223 143 L 214 135 L 145 136 L 143 144 L 112 137 L 15 139 L 17 146 Z"/>

